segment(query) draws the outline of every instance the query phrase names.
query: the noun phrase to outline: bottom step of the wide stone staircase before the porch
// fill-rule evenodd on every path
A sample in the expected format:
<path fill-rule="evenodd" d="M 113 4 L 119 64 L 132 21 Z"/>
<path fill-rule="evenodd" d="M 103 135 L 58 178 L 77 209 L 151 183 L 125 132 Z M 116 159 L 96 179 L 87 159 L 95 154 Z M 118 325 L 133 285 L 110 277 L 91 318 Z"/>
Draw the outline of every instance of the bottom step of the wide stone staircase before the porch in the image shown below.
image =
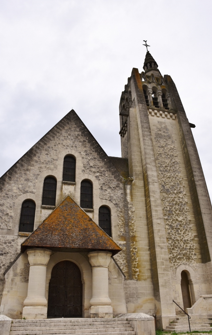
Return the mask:
<path fill-rule="evenodd" d="M 96 329 L 96 332 L 84 332 L 84 333 L 75 333 L 75 332 L 72 332 L 72 331 L 66 331 L 66 330 L 59 330 L 57 332 L 52 332 L 52 331 L 11 331 L 10 332 L 10 335 L 72 335 L 72 334 L 78 334 L 78 335 L 91 335 L 91 334 L 94 334 L 94 335 L 102 335 L 103 332 L 100 331 L 101 329 Z M 113 331 L 113 332 L 105 332 L 107 335 L 136 335 L 136 332 L 133 331 L 132 328 L 126 328 L 126 329 L 122 329 L 122 328 L 117 328 L 116 329 L 117 331 Z"/>

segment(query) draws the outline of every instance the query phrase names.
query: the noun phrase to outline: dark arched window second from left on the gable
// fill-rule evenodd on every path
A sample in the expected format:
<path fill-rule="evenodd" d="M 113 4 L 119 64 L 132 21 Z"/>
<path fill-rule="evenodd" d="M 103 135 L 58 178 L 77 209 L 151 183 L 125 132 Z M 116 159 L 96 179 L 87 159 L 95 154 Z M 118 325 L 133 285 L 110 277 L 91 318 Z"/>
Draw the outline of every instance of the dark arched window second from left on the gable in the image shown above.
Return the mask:
<path fill-rule="evenodd" d="M 43 182 L 42 205 L 55 206 L 57 180 L 54 177 L 46 177 Z"/>

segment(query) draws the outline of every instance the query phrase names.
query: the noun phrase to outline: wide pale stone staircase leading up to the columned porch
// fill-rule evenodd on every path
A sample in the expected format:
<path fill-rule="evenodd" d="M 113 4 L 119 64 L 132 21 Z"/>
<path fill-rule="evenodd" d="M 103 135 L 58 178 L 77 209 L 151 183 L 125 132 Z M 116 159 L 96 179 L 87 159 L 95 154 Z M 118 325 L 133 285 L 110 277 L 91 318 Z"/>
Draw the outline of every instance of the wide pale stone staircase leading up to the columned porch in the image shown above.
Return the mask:
<path fill-rule="evenodd" d="M 126 318 L 13 320 L 10 335 L 136 335 Z"/>

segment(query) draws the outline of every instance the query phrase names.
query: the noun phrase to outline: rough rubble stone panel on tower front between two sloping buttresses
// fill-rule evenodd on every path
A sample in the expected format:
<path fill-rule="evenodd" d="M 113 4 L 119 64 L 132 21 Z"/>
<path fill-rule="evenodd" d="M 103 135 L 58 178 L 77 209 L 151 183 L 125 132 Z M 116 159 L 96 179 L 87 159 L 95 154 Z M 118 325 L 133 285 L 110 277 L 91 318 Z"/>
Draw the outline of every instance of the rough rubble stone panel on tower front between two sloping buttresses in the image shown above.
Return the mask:
<path fill-rule="evenodd" d="M 176 270 L 180 264 L 196 263 L 193 238 L 197 231 L 192 234 L 190 225 L 190 219 L 194 214 L 186 199 L 185 183 L 188 182 L 184 181 L 185 176 L 183 179 L 183 162 L 180 162 L 178 156 L 180 143 L 179 139 L 177 141 L 176 121 L 162 118 L 159 121 L 160 119 L 152 116 L 149 116 L 149 119 L 166 224 L 170 267 Z M 201 257 L 199 254 L 198 256 Z"/>

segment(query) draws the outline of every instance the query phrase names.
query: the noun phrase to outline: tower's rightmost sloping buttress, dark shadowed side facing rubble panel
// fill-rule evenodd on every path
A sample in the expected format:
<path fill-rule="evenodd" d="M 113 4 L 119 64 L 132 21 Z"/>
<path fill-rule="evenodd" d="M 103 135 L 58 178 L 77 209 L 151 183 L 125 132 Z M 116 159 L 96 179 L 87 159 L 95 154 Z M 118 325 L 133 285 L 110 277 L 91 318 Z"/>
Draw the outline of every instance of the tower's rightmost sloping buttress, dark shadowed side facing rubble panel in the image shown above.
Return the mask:
<path fill-rule="evenodd" d="M 192 198 L 194 215 L 198 229 L 198 237 L 201 247 L 202 261 L 208 263 L 212 255 L 212 207 L 205 183 L 202 166 L 192 131 L 181 103 L 177 88 L 170 76 L 165 76 L 169 90 L 178 110 L 178 126 L 181 146 L 185 161 L 186 173 L 189 181 L 189 190 Z"/>

